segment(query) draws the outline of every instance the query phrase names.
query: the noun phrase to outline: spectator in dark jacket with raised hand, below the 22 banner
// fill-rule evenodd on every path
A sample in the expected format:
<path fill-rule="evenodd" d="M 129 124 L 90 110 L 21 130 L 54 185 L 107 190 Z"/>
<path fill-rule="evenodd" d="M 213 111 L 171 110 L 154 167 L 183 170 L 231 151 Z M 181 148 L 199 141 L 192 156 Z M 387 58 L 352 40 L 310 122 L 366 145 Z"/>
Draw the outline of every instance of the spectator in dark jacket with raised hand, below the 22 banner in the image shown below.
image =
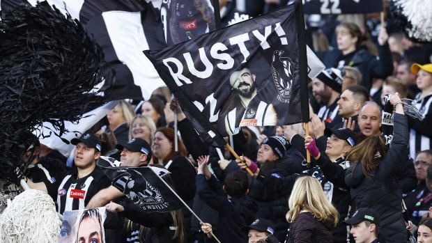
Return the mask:
<path fill-rule="evenodd" d="M 387 31 L 378 35 L 378 57 L 373 56 L 363 45 L 362 31 L 353 23 L 339 24 L 336 28 L 337 47 L 332 52 L 318 54 L 327 68 L 342 68 L 346 65 L 362 73 L 361 84 L 371 89 L 372 77 L 387 78 L 393 73 L 392 53 L 387 45 Z"/>

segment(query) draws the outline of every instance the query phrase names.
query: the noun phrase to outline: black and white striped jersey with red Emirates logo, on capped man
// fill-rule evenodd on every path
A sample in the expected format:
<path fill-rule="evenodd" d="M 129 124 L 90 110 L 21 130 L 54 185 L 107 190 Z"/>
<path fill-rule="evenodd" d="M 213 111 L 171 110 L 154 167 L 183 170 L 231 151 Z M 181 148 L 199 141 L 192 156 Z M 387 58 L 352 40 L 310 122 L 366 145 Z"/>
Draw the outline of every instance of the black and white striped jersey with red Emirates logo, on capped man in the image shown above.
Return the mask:
<path fill-rule="evenodd" d="M 105 173 L 96 166 L 95 169 L 84 178 L 77 179 L 77 168 L 53 183 L 45 182 L 48 194 L 56 202 L 57 212 L 82 210 L 90 199 L 101 189 L 111 185 L 111 181 Z"/>

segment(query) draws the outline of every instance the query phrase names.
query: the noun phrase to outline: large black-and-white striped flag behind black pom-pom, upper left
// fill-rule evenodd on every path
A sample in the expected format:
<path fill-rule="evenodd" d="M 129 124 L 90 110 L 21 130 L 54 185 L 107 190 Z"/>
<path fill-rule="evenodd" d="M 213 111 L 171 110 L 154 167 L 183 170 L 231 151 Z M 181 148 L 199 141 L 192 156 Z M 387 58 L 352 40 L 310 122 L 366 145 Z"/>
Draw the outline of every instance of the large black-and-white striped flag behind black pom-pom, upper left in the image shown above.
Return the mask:
<path fill-rule="evenodd" d="M 0 0 L 2 16 L 23 4 L 23 0 Z M 36 6 L 35 0 L 28 1 Z M 153 3 L 136 0 L 49 0 L 62 13 L 68 13 L 85 26 L 105 54 L 105 61 L 116 71 L 112 100 L 148 100 L 151 93 L 165 86 L 153 65 L 142 53 L 167 46 L 160 13 Z M 77 60 L 79 61 L 79 60 Z"/>

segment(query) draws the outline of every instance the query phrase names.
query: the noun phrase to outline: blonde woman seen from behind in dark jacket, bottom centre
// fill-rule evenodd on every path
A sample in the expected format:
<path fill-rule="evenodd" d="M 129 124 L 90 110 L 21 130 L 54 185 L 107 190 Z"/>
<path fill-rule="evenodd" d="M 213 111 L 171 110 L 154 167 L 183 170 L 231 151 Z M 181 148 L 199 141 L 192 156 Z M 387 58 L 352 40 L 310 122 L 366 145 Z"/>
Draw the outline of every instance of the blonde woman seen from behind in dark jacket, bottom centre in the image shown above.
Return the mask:
<path fill-rule="evenodd" d="M 288 242 L 332 243 L 332 228 L 338 221 L 336 208 L 325 198 L 320 182 L 311 176 L 298 178 L 288 200 L 291 223 Z"/>

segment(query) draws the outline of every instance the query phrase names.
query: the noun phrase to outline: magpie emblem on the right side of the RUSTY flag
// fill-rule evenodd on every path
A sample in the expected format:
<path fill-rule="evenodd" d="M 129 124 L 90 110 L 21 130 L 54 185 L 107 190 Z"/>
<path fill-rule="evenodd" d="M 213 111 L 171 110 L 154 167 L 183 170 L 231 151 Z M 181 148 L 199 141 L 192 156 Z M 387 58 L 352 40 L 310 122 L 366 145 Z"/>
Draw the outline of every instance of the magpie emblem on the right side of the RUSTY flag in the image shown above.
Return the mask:
<path fill-rule="evenodd" d="M 272 77 L 277 88 L 277 100 L 289 103 L 291 98 L 291 86 L 293 84 L 293 63 L 288 56 L 282 56 L 284 51 L 273 52 Z"/>

